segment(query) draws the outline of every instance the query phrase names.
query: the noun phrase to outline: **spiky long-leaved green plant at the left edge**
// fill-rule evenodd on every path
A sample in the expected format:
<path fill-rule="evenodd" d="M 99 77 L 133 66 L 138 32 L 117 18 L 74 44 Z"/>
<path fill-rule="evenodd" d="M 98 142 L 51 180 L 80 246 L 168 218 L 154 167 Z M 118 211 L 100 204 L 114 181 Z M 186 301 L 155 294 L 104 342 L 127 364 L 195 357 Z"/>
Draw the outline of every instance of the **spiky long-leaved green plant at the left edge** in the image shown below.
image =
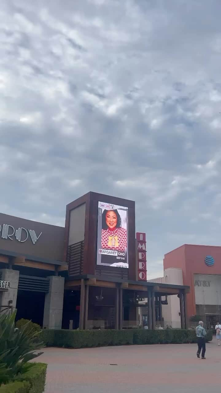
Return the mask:
<path fill-rule="evenodd" d="M 16 311 L 11 316 L 0 315 L 0 375 L 5 367 L 10 377 L 18 374 L 25 362 L 39 356 L 34 352 L 43 347 L 37 340 L 40 332 L 30 329 L 30 321 L 20 329 L 15 328 L 15 316 Z"/>

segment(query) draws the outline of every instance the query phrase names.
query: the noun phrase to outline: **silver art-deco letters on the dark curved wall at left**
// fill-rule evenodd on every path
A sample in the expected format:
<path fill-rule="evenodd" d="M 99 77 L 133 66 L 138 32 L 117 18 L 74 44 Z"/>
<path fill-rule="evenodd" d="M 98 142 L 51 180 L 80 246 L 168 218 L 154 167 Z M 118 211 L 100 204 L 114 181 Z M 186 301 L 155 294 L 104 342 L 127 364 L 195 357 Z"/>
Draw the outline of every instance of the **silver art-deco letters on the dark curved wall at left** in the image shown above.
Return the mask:
<path fill-rule="evenodd" d="M 2 224 L 2 226 L 0 225 L 0 233 L 2 239 L 13 240 L 13 237 L 15 237 L 15 239 L 20 243 L 26 242 L 29 236 L 33 244 L 35 244 L 38 241 L 39 237 L 42 235 L 41 232 L 37 236 L 34 230 L 32 229 L 27 230 L 23 227 L 20 227 L 17 230 L 15 230 L 15 228 L 12 225 L 8 225 L 8 224 Z"/>

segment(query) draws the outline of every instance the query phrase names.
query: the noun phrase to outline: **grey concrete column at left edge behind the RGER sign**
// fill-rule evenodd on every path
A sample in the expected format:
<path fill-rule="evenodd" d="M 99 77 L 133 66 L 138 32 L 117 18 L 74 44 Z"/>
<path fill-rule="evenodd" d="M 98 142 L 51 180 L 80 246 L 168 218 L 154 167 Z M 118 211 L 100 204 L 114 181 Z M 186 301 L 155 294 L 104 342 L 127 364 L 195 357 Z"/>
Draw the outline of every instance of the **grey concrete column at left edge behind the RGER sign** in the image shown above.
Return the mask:
<path fill-rule="evenodd" d="M 7 292 L 0 292 L 0 310 L 2 306 L 12 306 L 12 311 L 14 311 L 17 303 L 19 271 L 0 269 L 0 273 L 2 273 L 1 280 L 10 283 L 10 288 Z M 11 309 L 6 310 L 6 312 L 9 311 L 11 312 Z"/>

